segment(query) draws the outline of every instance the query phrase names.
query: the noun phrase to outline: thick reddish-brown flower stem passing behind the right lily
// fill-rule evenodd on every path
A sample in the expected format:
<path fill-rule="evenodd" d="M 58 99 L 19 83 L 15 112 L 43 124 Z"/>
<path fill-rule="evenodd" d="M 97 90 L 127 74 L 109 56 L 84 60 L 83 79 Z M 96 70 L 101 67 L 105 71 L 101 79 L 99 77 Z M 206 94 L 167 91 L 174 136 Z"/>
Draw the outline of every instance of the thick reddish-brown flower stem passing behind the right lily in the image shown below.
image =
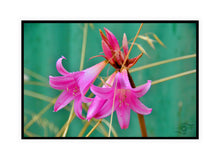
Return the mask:
<path fill-rule="evenodd" d="M 136 87 L 135 83 L 134 83 L 129 71 L 128 71 L 128 78 L 129 78 L 131 87 L 135 88 Z M 147 137 L 147 128 L 145 125 L 144 116 L 141 114 L 137 114 L 137 115 L 138 115 L 139 125 L 140 125 L 140 129 L 141 129 L 141 135 L 142 135 L 142 137 Z"/>

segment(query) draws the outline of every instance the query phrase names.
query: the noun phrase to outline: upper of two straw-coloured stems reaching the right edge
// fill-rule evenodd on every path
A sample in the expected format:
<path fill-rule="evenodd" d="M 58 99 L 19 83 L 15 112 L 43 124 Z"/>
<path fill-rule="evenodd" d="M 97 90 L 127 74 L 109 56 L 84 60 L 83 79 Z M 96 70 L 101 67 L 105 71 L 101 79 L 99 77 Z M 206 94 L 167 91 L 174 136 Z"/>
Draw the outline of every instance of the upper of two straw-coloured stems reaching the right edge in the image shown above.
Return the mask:
<path fill-rule="evenodd" d="M 148 64 L 148 65 L 144 65 L 141 67 L 131 69 L 130 73 L 140 71 L 143 69 L 147 69 L 147 68 L 151 68 L 151 67 L 155 67 L 155 66 L 159 66 L 161 64 L 170 63 L 170 62 L 179 61 L 179 60 L 188 59 L 188 58 L 193 58 L 193 57 L 196 57 L 196 54 L 191 54 L 191 55 L 187 55 L 187 56 L 182 56 L 182 57 L 172 58 L 172 59 L 168 59 L 168 60 L 164 60 L 164 61 L 160 61 L 160 62 L 155 62 L 152 64 Z"/>

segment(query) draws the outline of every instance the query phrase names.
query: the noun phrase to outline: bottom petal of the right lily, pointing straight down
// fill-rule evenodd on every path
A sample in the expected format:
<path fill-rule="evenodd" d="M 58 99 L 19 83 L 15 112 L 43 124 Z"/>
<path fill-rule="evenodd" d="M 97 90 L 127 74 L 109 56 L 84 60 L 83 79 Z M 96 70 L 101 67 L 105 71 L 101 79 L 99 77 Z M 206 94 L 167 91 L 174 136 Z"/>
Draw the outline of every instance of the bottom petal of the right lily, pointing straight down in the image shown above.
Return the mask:
<path fill-rule="evenodd" d="M 122 106 L 117 107 L 116 113 L 121 129 L 128 128 L 130 122 L 130 108 L 126 106 L 125 103 L 122 103 Z"/>

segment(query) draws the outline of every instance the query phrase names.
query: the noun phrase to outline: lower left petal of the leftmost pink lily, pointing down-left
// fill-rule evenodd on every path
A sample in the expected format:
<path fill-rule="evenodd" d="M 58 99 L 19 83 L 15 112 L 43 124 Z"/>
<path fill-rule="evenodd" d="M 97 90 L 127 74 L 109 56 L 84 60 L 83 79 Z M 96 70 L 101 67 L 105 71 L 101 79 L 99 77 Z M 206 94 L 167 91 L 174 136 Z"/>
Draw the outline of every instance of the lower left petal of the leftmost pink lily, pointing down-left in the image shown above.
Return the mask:
<path fill-rule="evenodd" d="M 58 97 L 55 105 L 54 105 L 54 112 L 59 111 L 63 107 L 65 107 L 67 104 L 69 104 L 74 99 L 74 96 L 72 94 L 72 91 L 64 90 L 61 95 Z"/>

